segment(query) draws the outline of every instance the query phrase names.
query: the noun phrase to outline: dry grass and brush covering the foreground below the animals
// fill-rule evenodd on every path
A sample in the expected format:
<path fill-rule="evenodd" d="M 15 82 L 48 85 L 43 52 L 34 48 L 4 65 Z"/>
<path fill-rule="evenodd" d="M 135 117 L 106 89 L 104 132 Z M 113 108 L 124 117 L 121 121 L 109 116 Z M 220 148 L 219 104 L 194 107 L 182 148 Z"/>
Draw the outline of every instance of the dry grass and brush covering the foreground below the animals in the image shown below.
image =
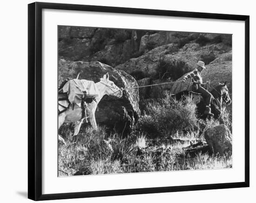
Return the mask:
<path fill-rule="evenodd" d="M 105 127 L 93 132 L 81 129 L 76 139 L 65 131 L 67 146 L 59 144 L 59 175 L 91 175 L 148 171 L 176 171 L 230 168 L 229 154 L 219 157 L 207 153 L 186 154 L 189 141 L 201 140 L 205 129 L 226 123 L 231 127 L 225 110 L 219 120 L 197 118 L 191 98 L 175 101 L 168 95 L 148 102 L 137 128 L 127 137 L 106 133 Z M 186 140 L 175 142 L 172 139 Z M 163 140 L 169 140 L 164 142 Z"/>

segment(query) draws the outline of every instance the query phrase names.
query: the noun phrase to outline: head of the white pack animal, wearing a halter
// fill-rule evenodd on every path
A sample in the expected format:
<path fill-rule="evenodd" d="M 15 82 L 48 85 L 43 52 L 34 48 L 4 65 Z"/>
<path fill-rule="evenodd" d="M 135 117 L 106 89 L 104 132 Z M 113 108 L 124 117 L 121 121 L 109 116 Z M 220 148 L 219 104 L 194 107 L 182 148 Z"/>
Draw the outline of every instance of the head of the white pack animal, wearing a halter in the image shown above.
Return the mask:
<path fill-rule="evenodd" d="M 112 95 L 120 98 L 123 95 L 123 91 L 115 85 L 115 83 L 109 80 L 108 73 L 101 78 L 101 83 L 105 85 L 105 94 Z"/>

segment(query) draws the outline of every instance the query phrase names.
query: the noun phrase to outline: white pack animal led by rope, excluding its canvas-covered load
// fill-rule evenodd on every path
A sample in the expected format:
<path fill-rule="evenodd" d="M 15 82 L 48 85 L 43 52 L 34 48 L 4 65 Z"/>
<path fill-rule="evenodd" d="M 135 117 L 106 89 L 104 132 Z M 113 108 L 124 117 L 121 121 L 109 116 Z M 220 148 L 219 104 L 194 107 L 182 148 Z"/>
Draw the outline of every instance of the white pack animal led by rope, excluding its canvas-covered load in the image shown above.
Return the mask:
<path fill-rule="evenodd" d="M 96 120 L 95 120 L 95 111 L 96 111 L 97 105 L 101 101 L 102 97 L 104 95 L 112 95 L 112 96 L 116 96 L 118 98 L 121 98 L 123 92 L 122 92 L 122 90 L 120 88 L 118 88 L 115 85 L 114 82 L 109 80 L 108 73 L 105 74 L 100 79 L 100 82 L 96 82 L 95 86 L 96 86 L 96 88 L 99 91 L 99 95 L 96 96 L 95 99 L 92 100 L 92 102 L 87 104 L 87 108 L 85 109 L 85 111 L 86 111 L 85 115 L 88 115 L 89 121 L 90 121 L 93 129 L 97 130 L 97 123 L 96 123 Z M 58 104 L 61 107 L 65 107 L 65 106 L 68 106 L 68 101 L 67 100 L 59 101 Z M 84 119 L 87 119 L 87 117 L 82 117 L 81 107 L 78 104 L 74 103 L 74 106 L 73 105 L 69 105 L 67 110 L 65 109 L 64 112 L 59 114 L 59 117 L 58 117 L 58 129 L 60 129 L 60 127 L 61 127 L 61 125 L 63 123 L 74 122 L 75 126 L 74 126 L 74 134 L 73 134 L 73 136 L 75 136 L 75 135 L 77 135 L 79 133 L 81 124 L 84 121 Z M 60 134 L 58 134 L 58 139 L 60 141 L 62 141 L 65 146 L 67 145 L 67 143 L 61 137 Z"/>

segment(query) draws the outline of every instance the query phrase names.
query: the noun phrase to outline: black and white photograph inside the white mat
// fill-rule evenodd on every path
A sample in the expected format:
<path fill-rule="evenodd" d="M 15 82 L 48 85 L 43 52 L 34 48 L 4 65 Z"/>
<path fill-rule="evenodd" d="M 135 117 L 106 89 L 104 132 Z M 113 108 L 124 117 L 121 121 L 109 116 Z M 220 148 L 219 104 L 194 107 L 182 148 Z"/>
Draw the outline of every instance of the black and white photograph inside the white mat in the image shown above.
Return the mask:
<path fill-rule="evenodd" d="M 59 177 L 232 169 L 232 34 L 56 29 Z"/>

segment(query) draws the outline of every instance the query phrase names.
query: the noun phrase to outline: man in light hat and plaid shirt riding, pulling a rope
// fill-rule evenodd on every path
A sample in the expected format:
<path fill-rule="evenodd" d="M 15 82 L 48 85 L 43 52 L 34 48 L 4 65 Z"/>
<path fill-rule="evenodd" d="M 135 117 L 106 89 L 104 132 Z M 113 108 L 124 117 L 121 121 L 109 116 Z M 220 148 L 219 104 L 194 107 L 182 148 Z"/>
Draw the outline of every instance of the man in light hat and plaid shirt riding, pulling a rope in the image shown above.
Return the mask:
<path fill-rule="evenodd" d="M 182 82 L 185 82 L 188 78 L 192 79 L 192 91 L 202 94 L 202 97 L 204 98 L 204 102 L 206 105 L 204 114 L 211 114 L 210 103 L 211 103 L 212 95 L 202 87 L 201 71 L 205 69 L 204 62 L 198 61 L 196 65 L 197 65 L 197 68 L 195 68 L 195 70 L 183 76 Z"/>

